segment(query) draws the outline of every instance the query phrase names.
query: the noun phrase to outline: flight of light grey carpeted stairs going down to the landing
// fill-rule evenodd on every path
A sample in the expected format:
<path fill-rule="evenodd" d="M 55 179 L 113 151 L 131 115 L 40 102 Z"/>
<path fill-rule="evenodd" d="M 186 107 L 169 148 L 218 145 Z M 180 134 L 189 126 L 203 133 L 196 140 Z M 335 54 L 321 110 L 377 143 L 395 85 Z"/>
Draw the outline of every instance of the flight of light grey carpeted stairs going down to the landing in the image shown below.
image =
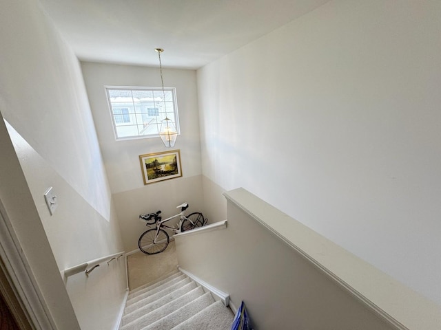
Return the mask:
<path fill-rule="evenodd" d="M 133 289 L 120 330 L 229 330 L 234 314 L 178 270 Z"/>

